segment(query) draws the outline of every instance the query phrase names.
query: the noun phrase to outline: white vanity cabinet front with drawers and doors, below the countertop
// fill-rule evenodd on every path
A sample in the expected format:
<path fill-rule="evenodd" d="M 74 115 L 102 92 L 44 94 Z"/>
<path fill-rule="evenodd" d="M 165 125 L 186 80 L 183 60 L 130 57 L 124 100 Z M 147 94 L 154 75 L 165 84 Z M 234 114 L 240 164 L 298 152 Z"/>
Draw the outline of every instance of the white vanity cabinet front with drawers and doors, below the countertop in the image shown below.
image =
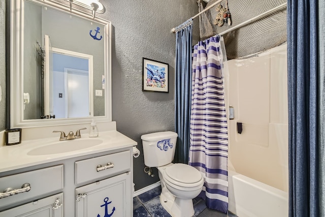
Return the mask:
<path fill-rule="evenodd" d="M 0 198 L 0 217 L 132 216 L 132 150 L 123 147 L 0 173 L 0 193 L 30 186 Z"/>

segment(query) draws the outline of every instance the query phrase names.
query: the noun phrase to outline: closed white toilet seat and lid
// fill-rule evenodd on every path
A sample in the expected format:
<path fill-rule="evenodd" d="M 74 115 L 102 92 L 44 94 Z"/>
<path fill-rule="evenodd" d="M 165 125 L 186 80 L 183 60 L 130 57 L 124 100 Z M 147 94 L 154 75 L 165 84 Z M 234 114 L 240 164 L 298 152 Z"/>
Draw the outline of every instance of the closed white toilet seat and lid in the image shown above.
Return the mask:
<path fill-rule="evenodd" d="M 167 182 L 185 188 L 198 187 L 203 183 L 201 173 L 187 164 L 174 164 L 166 167 L 163 177 Z"/>

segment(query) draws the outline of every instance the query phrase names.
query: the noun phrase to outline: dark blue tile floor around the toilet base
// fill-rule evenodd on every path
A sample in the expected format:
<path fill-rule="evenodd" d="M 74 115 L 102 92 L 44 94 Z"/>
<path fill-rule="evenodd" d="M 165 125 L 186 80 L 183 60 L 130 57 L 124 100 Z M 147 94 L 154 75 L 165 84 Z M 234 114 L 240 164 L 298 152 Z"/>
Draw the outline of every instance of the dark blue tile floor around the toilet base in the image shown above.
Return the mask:
<path fill-rule="evenodd" d="M 133 198 L 133 217 L 170 217 L 171 215 L 161 206 L 159 195 L 161 187 L 156 187 Z M 232 213 L 222 213 L 206 207 L 205 202 L 199 198 L 193 199 L 194 215 L 197 217 L 236 217 Z"/>

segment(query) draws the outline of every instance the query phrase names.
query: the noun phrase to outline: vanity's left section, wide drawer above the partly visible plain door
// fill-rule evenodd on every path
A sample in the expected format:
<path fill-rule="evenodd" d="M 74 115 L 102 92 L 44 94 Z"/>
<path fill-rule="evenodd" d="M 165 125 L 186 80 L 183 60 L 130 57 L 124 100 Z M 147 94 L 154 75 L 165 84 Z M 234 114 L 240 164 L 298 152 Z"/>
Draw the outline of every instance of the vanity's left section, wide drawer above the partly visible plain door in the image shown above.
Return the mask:
<path fill-rule="evenodd" d="M 0 217 L 63 216 L 63 165 L 32 170 L 0 178 Z M 6 192 L 6 193 L 3 193 Z M 54 194 L 54 195 L 51 195 Z M 48 196 L 50 195 L 50 196 Z"/>

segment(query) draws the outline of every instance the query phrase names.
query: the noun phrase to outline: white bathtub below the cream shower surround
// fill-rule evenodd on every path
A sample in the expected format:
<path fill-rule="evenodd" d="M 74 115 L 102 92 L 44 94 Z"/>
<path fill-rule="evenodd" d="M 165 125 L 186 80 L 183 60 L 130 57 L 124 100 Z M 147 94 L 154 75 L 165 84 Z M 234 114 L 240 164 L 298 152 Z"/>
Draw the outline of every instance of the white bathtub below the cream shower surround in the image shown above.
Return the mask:
<path fill-rule="evenodd" d="M 228 171 L 229 211 L 239 217 L 288 216 L 288 194 L 265 183 Z"/>

